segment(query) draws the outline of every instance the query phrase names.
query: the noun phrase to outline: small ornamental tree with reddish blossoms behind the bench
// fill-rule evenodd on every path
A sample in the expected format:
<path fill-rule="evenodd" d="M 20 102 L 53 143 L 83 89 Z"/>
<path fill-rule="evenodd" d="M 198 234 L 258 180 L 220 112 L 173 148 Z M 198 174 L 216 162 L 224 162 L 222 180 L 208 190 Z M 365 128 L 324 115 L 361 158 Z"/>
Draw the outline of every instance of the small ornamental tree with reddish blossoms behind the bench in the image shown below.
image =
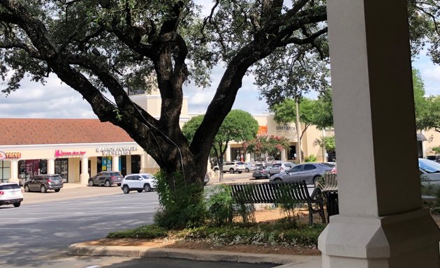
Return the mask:
<path fill-rule="evenodd" d="M 243 149 L 247 153 L 265 154 L 267 156 L 276 156 L 281 154 L 283 149 L 288 149 L 291 146 L 287 137 L 277 135 L 258 136 L 249 142 L 244 142 Z"/>

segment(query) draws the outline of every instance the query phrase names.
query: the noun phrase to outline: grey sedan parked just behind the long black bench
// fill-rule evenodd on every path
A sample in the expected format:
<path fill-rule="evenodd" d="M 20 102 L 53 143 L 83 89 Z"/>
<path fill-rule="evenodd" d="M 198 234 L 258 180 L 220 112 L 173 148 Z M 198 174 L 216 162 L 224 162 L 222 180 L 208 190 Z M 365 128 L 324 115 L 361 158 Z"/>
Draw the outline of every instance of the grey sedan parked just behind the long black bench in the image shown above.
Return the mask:
<path fill-rule="evenodd" d="M 295 165 L 290 170 L 283 173 L 274 174 L 269 181 L 302 181 L 306 184 L 314 184 L 314 181 L 323 177 L 325 172 L 332 170 L 323 163 L 304 163 Z"/>

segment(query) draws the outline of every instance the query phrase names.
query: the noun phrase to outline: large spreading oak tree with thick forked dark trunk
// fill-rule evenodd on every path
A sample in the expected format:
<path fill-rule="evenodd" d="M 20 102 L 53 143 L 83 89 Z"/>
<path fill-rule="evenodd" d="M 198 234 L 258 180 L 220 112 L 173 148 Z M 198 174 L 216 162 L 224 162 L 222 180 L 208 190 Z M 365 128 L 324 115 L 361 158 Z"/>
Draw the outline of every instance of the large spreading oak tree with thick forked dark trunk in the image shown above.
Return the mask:
<path fill-rule="evenodd" d="M 413 50 L 430 38 L 439 61 L 439 4 L 408 3 Z M 25 75 L 43 82 L 54 73 L 101 121 L 129 133 L 169 174 L 168 184 L 181 171 L 201 191 L 212 142 L 244 75 L 256 75 L 269 103 L 325 89 L 328 76 L 325 1 L 215 0 L 209 8 L 202 18 L 189 0 L 0 0 L 2 91 L 19 89 Z M 218 63 L 223 76 L 189 144 L 179 127 L 182 87 L 209 84 Z M 149 75 L 161 94 L 159 119 L 127 94 L 148 90 Z"/>

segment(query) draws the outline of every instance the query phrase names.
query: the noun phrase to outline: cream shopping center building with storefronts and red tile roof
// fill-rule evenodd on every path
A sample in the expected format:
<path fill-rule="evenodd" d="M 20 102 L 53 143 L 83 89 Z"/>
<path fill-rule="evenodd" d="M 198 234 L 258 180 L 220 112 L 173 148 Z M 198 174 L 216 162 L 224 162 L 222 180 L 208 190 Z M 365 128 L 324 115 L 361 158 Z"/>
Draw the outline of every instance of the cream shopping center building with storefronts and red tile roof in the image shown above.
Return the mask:
<path fill-rule="evenodd" d="M 161 98 L 157 91 L 131 98 L 159 118 Z M 189 113 L 188 100 L 184 98 L 181 126 L 195 115 Z M 277 124 L 273 114 L 254 115 L 254 118 L 259 125 L 258 135 L 284 136 L 290 141 L 290 148 L 275 158 L 298 162 L 295 124 Z M 56 173 L 65 182 L 87 184 L 89 177 L 105 170 L 124 175 L 159 170 L 154 159 L 122 128 L 98 119 L 0 119 L 0 129 L 0 181 L 21 181 L 36 174 Z M 328 154 L 317 142 L 329 135 L 334 135 L 334 131 L 309 126 L 301 139 L 302 156 L 332 161 L 325 157 Z M 432 146 L 440 144 L 440 133 L 428 131 L 419 134 L 418 140 L 419 154 L 430 155 Z M 255 161 L 258 157 L 244 153 L 240 142 L 230 142 L 225 160 Z"/>

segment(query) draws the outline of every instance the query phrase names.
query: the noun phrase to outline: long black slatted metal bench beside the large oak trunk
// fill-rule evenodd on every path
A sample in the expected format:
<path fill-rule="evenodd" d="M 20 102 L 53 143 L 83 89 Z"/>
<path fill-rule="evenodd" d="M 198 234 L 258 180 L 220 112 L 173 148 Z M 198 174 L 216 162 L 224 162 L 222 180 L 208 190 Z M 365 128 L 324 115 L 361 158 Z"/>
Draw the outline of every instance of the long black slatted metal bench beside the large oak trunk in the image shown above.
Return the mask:
<path fill-rule="evenodd" d="M 314 188 L 309 193 L 305 181 L 300 182 L 254 182 L 247 184 L 228 184 L 235 202 L 238 204 L 259 204 L 259 203 L 287 203 L 298 202 L 307 204 L 309 209 L 309 224 L 313 224 L 313 214 L 318 213 L 325 223 L 323 209 L 323 197 L 321 189 Z M 317 208 L 314 208 L 313 204 Z"/>

